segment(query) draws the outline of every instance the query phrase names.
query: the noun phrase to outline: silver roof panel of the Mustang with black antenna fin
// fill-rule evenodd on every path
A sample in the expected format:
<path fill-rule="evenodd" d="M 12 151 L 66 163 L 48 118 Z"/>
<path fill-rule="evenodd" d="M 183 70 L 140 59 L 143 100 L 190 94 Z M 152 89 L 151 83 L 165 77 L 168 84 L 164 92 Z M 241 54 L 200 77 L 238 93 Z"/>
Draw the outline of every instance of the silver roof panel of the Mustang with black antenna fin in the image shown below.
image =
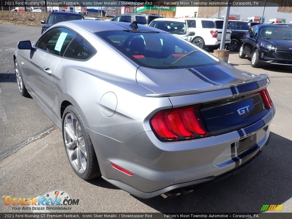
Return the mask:
<path fill-rule="evenodd" d="M 102 20 L 71 20 L 57 23 L 57 26 L 68 26 L 74 30 L 74 27 L 83 27 L 92 33 L 106 31 L 106 30 L 133 30 L 130 27 L 131 23 L 115 22 L 115 21 L 102 21 Z M 155 31 L 165 32 L 154 27 L 138 24 L 137 31 Z"/>

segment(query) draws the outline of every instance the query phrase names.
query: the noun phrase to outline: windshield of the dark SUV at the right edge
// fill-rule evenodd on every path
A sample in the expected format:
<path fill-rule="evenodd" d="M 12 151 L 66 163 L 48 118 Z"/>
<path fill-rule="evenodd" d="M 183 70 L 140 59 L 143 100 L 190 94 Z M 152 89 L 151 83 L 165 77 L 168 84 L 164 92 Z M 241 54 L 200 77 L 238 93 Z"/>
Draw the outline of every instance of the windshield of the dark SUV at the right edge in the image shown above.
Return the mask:
<path fill-rule="evenodd" d="M 260 30 L 260 37 L 265 39 L 292 40 L 292 29 L 277 27 L 264 27 Z"/>

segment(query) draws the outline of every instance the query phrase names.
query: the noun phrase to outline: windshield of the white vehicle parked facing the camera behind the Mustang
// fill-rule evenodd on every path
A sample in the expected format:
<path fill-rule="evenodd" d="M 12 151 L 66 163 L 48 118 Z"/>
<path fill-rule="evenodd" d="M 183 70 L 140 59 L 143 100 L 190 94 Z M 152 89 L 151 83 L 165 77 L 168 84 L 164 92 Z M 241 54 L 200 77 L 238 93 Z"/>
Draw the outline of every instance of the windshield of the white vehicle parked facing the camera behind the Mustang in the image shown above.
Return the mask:
<path fill-rule="evenodd" d="M 151 27 L 164 30 L 169 33 L 184 35 L 186 34 L 186 23 L 176 22 L 176 21 L 156 21 L 154 20 L 149 25 Z"/>

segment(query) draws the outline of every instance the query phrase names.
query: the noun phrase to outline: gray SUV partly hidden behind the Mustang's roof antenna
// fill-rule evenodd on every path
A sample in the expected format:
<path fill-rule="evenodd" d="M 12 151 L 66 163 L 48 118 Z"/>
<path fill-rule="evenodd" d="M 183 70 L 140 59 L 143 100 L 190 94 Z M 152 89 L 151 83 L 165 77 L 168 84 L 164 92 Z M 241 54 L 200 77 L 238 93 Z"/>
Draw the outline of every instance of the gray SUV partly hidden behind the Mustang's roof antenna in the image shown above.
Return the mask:
<path fill-rule="evenodd" d="M 140 13 L 127 13 L 115 16 L 111 21 L 120 21 L 132 23 L 137 21 L 138 24 L 149 25 L 152 20 L 156 18 L 162 18 L 162 16 L 152 15 L 152 14 L 140 14 Z"/>

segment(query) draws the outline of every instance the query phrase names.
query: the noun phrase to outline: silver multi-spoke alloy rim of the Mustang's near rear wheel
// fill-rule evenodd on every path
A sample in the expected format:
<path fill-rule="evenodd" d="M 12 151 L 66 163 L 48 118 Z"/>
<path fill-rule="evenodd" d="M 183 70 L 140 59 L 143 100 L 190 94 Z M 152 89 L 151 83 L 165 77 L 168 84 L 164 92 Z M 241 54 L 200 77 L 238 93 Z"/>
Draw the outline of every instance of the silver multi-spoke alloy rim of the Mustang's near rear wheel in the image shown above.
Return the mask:
<path fill-rule="evenodd" d="M 69 161 L 73 168 L 82 174 L 87 165 L 87 152 L 81 125 L 76 116 L 72 113 L 66 114 L 63 129 Z"/>

